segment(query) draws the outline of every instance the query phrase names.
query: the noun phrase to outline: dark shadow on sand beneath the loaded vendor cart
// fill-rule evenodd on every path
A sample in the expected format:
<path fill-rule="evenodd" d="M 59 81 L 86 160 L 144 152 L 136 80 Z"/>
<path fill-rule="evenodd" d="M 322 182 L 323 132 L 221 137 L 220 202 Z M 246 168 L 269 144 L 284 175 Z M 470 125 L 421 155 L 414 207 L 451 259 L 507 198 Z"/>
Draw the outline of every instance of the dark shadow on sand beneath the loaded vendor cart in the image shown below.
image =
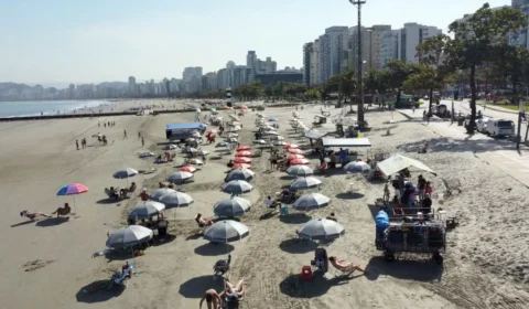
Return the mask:
<path fill-rule="evenodd" d="M 429 256 L 430 257 L 430 256 Z M 421 256 L 413 256 L 421 258 Z M 382 256 L 374 256 L 366 266 L 366 277 L 377 280 L 380 275 L 415 281 L 439 281 L 443 276 L 444 267 L 429 259 L 397 259 L 386 262 Z"/>

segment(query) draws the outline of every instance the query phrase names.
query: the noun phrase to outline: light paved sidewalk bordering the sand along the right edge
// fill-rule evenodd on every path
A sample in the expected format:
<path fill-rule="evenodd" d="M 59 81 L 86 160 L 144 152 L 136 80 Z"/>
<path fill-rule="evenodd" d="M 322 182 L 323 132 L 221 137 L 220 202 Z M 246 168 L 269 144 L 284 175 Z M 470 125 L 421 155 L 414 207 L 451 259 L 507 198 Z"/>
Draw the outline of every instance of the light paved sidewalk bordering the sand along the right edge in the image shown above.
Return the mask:
<path fill-rule="evenodd" d="M 457 126 L 457 122 L 430 121 L 427 124 L 422 121 L 422 114 L 418 115 L 417 110 L 415 114 L 411 109 L 398 111 L 408 119 L 421 121 L 423 126 L 438 135 L 452 139 L 454 147 L 457 147 L 457 143 L 464 145 L 468 151 L 474 151 L 474 156 L 477 158 L 505 171 L 529 188 L 529 149 L 527 147 L 520 145 L 520 151 L 517 151 L 516 145 L 508 140 L 497 140 L 482 134 L 469 137 L 465 128 Z"/>

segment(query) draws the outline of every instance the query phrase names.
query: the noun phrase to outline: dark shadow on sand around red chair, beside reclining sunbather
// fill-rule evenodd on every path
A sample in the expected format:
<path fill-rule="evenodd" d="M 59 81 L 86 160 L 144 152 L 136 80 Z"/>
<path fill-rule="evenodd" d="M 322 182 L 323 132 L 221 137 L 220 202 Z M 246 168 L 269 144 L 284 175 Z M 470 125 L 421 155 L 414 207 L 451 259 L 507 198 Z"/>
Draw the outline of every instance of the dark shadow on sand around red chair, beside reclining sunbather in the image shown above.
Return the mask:
<path fill-rule="evenodd" d="M 358 277 L 358 276 L 356 276 Z M 279 284 L 282 294 L 293 298 L 313 298 L 325 295 L 333 286 L 347 284 L 356 277 L 339 276 L 326 278 L 316 271 L 311 281 L 304 281 L 300 275 L 291 275 Z"/>

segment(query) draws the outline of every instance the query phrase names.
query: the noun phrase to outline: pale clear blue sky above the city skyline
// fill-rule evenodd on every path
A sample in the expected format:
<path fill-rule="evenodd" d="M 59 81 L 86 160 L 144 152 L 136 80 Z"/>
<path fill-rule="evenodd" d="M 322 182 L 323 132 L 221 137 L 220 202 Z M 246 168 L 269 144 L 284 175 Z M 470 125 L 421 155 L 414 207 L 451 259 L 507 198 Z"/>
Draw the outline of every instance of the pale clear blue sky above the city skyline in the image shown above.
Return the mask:
<path fill-rule="evenodd" d="M 446 29 L 484 0 L 367 0 L 363 24 Z M 490 0 L 492 7 L 510 0 Z M 355 25 L 347 0 L 0 0 L 0 82 L 91 83 L 182 76 L 249 50 L 279 67 L 332 25 Z"/>

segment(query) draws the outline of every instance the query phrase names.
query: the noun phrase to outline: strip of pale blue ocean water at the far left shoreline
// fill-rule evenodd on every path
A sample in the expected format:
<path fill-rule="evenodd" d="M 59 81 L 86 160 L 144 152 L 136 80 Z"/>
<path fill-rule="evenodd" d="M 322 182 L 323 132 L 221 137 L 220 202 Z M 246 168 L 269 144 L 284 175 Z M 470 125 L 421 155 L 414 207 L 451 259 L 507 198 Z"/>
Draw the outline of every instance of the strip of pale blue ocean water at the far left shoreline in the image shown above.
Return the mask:
<path fill-rule="evenodd" d="M 110 105 L 106 100 L 24 100 L 24 102 L 0 102 L 0 117 L 21 117 L 21 116 L 39 116 L 56 115 L 69 113 L 78 108 L 94 108 L 100 105 Z"/>

